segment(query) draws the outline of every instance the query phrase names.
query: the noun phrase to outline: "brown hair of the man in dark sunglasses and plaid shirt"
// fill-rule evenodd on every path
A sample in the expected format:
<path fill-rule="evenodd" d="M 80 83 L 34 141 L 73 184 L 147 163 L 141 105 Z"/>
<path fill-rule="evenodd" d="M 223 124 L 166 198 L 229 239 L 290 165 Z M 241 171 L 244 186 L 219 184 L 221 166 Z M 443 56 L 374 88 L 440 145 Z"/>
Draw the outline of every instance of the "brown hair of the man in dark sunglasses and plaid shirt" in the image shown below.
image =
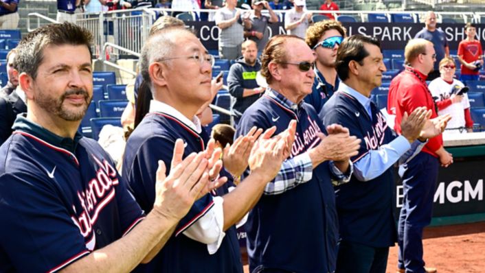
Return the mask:
<path fill-rule="evenodd" d="M 284 65 L 284 62 L 287 62 L 287 52 L 284 48 L 284 45 L 287 43 L 289 39 L 298 39 L 303 40 L 302 38 L 295 36 L 295 35 L 276 35 L 269 39 L 266 47 L 261 54 L 261 75 L 266 78 L 266 82 L 271 84 L 273 80 L 273 76 L 269 73 L 269 63 L 275 62 L 278 64 Z"/>

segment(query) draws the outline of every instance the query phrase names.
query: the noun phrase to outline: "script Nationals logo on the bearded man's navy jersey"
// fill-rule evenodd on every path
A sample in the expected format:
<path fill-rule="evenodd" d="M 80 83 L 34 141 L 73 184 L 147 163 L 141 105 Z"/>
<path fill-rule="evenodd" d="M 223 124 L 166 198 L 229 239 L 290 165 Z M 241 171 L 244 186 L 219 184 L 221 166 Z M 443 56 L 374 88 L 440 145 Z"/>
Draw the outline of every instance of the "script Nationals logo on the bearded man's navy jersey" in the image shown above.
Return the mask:
<path fill-rule="evenodd" d="M 116 169 L 108 161 L 102 161 L 93 155 L 94 161 L 99 169 L 96 171 L 95 178 L 87 183 L 87 189 L 78 191 L 78 198 L 82 206 L 82 212 L 71 216 L 72 221 L 78 226 L 80 233 L 84 236 L 86 247 L 93 250 L 96 244 L 93 225 L 98 220 L 102 209 L 115 198 L 115 188 L 118 185 Z"/>

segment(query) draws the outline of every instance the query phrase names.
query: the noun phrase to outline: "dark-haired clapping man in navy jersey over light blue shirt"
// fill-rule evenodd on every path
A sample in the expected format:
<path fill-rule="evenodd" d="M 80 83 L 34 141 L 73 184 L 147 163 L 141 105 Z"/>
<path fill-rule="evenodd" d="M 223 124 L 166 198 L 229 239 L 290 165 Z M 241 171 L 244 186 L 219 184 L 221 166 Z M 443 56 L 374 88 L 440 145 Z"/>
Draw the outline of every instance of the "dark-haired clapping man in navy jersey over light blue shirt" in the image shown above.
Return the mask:
<path fill-rule="evenodd" d="M 423 130 L 430 114 L 425 108 L 403 119 L 399 137 L 387 126 L 370 98 L 386 71 L 375 38 L 354 35 L 344 40 L 335 67 L 342 82 L 319 116 L 324 125 L 339 123 L 349 128 L 363 143 L 359 154 L 351 158 L 350 182 L 335 187 L 340 235 L 336 271 L 385 273 L 389 248 L 397 239 L 392 166 L 420 150 L 425 142 L 416 141 L 418 137 L 434 137 L 441 127 L 436 129 L 429 122 Z"/>

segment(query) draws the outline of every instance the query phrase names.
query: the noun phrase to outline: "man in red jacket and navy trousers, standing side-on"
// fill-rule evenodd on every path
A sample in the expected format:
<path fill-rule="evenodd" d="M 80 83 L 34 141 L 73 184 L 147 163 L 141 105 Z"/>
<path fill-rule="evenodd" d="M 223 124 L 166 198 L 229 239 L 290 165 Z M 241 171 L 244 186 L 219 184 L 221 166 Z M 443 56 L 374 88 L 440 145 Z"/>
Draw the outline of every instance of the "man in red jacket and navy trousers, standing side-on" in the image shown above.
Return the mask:
<path fill-rule="evenodd" d="M 401 133 L 401 120 L 418 107 L 438 116 L 438 108 L 426 84 L 433 70 L 436 53 L 433 43 L 422 38 L 411 39 L 404 49 L 409 66 L 391 82 L 387 112 L 396 115 L 394 129 Z M 422 259 L 422 230 L 431 222 L 433 196 L 438 179 L 438 167 L 448 167 L 453 157 L 444 150 L 441 134 L 429 139 L 422 151 L 400 167 L 404 198 L 398 225 L 398 272 L 436 272 L 425 268 Z"/>

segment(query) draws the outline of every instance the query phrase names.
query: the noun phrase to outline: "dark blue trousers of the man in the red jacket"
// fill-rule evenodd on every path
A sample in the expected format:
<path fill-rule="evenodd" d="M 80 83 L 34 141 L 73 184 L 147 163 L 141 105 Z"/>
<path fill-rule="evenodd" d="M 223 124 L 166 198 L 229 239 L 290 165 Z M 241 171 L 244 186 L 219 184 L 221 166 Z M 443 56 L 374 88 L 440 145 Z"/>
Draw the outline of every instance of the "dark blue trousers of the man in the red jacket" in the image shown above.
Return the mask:
<path fill-rule="evenodd" d="M 431 223 L 433 197 L 438 178 L 438 158 L 420 152 L 403 175 L 403 206 L 398 223 L 398 268 L 406 273 L 425 272 L 422 260 L 422 229 Z"/>

